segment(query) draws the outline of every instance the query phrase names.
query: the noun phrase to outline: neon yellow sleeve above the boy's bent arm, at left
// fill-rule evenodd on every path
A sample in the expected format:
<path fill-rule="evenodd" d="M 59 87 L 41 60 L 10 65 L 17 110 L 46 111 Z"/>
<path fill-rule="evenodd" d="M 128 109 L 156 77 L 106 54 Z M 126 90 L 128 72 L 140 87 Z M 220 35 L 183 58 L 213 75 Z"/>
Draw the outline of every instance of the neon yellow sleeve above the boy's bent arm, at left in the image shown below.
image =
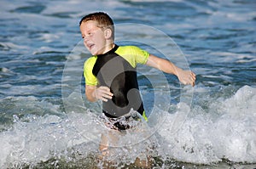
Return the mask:
<path fill-rule="evenodd" d="M 90 57 L 90 59 L 87 59 L 84 62 L 84 79 L 85 84 L 90 86 L 96 86 L 97 85 L 97 79 L 96 76 L 92 74 L 93 66 L 96 63 L 96 57 Z"/>

